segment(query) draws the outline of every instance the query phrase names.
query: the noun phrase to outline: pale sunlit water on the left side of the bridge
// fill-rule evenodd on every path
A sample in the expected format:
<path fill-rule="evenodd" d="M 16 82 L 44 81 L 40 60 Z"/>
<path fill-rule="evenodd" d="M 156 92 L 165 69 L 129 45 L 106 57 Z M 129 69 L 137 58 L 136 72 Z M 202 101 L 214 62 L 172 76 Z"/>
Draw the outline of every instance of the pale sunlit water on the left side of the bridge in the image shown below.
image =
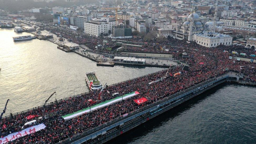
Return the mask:
<path fill-rule="evenodd" d="M 0 29 L 0 108 L 2 111 L 10 99 L 7 114 L 42 105 L 55 91 L 57 99 L 88 91 L 85 72 L 95 71 L 103 84 L 110 85 L 163 69 L 98 67 L 96 62 L 61 51 L 46 40 L 12 40 L 13 36 L 27 34 L 31 35 Z"/>

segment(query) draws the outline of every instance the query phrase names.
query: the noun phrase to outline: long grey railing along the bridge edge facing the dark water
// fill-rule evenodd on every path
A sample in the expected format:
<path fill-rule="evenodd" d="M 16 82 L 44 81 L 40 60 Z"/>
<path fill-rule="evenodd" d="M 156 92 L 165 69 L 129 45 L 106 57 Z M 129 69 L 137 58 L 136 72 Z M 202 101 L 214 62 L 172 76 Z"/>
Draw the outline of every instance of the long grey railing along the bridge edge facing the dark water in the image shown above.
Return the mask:
<path fill-rule="evenodd" d="M 186 93 L 186 92 L 189 92 L 190 90 L 193 90 L 193 89 L 195 89 L 195 88 L 198 88 L 198 87 L 200 87 L 200 86 L 202 86 L 202 85 L 204 85 L 204 84 L 206 84 L 206 83 L 212 82 L 212 81 L 214 81 L 214 80 L 216 80 L 216 77 L 211 78 L 211 79 L 209 79 L 209 80 L 207 80 L 207 81 L 205 81 L 205 82 L 196 84 L 195 86 L 190 87 L 190 88 L 188 88 L 188 89 L 185 89 L 185 90 L 183 90 L 183 91 L 181 91 L 181 92 L 172 94 L 172 95 L 170 95 L 170 96 L 168 96 L 168 97 L 166 97 L 166 98 L 164 98 L 164 99 L 161 99 L 161 100 L 159 100 L 159 101 L 157 101 L 157 102 L 154 102 L 154 103 L 152 103 L 152 104 L 146 105 L 146 106 L 144 106 L 144 107 L 142 107 L 142 108 L 140 108 L 140 109 L 134 110 L 134 111 L 128 113 L 127 116 L 122 116 L 122 115 L 121 115 L 121 116 L 118 116 L 117 118 L 115 118 L 115 119 L 113 119 L 113 120 L 111 120 L 111 121 L 105 122 L 104 124 L 102 124 L 102 125 L 100 125 L 100 126 L 97 126 L 97 127 L 93 128 L 93 129 L 90 129 L 90 130 L 87 130 L 87 131 L 85 131 L 85 132 L 82 132 L 82 133 L 80 133 L 80 134 L 74 135 L 74 136 L 72 136 L 71 138 L 67 138 L 66 140 L 62 140 L 62 141 L 59 142 L 58 144 L 70 143 L 70 142 L 75 141 L 75 140 L 77 140 L 77 139 L 81 139 L 81 138 L 83 138 L 83 137 L 85 137 L 85 136 L 87 136 L 87 135 L 90 135 L 90 134 L 93 134 L 93 133 L 95 133 L 95 132 L 97 132 L 97 131 L 99 131 L 99 130 L 102 130 L 102 129 L 104 129 L 105 127 L 108 127 L 108 126 L 110 126 L 110 125 L 112 125 L 112 124 L 114 124 L 114 123 L 116 123 L 116 122 L 118 122 L 118 121 L 121 121 L 121 120 L 123 120 L 123 119 L 126 119 L 126 118 L 128 118 L 129 116 L 131 116 L 131 115 L 135 115 L 135 114 L 137 114 L 137 113 L 140 113 L 141 111 L 144 111 L 144 110 L 146 110 L 146 109 L 148 109 L 148 108 L 151 108 L 151 107 L 153 107 L 153 106 L 156 106 L 156 105 L 158 105 L 158 104 L 160 104 L 160 103 L 162 103 L 162 102 L 165 102 L 165 101 L 167 101 L 167 100 L 169 100 L 169 99 L 172 99 L 172 98 L 174 98 L 174 97 L 177 97 L 178 95 L 181 95 L 181 94 L 184 94 L 184 93 Z"/>

